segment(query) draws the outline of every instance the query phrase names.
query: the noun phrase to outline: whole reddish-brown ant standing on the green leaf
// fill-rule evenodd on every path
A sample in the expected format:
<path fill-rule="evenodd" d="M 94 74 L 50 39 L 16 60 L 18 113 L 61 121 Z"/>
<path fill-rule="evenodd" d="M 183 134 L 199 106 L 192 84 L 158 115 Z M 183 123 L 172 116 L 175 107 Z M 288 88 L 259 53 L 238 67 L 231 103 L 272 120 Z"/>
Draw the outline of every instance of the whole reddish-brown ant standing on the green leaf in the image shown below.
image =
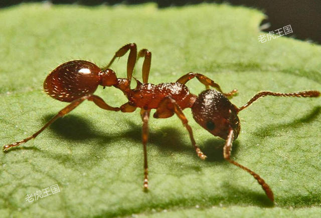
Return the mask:
<path fill-rule="evenodd" d="M 128 51 L 127 78 L 117 78 L 115 72 L 109 69 L 109 67 L 116 58 L 124 56 Z M 142 65 L 142 83 L 132 77 L 134 66 L 139 58 L 144 58 Z M 85 100 L 93 101 L 98 107 L 110 111 L 133 112 L 136 108 L 140 108 L 144 153 L 143 187 L 144 190 L 147 190 L 148 165 L 146 144 L 148 140 L 148 119 L 151 109 L 156 109 L 156 112 L 153 114 L 154 118 L 169 118 L 176 114 L 187 129 L 197 155 L 202 160 L 206 159 L 207 156 L 197 146 L 192 128 L 188 124 L 188 120 L 183 113 L 184 109 L 191 108 L 193 118 L 200 126 L 214 136 L 219 136 L 226 140 L 223 148 L 224 158 L 230 163 L 250 173 L 262 186 L 268 198 L 271 201 L 274 201 L 271 188 L 257 173 L 230 158 L 232 143 L 238 137 L 241 128 L 238 113 L 264 96 L 318 97 L 320 96 L 320 92 L 302 91 L 294 93 L 277 93 L 262 91 L 257 93 L 245 105 L 238 108 L 228 99 L 228 97 L 232 98 L 237 93 L 236 89 L 224 93 L 217 83 L 199 73 L 190 72 L 174 83 L 150 84 L 148 83 L 150 64 L 151 53 L 147 49 L 142 49 L 137 53 L 136 44 L 131 43 L 121 47 L 115 53 L 109 64 L 103 68 L 99 68 L 91 62 L 82 60 L 69 61 L 58 66 L 47 76 L 44 82 L 44 90 L 54 99 L 71 103 L 59 111 L 59 113 L 38 132 L 16 143 L 5 145 L 4 151 L 35 138 L 55 120 L 65 116 Z M 135 79 L 137 84 L 134 89 L 130 88 L 132 78 Z M 206 90 L 201 92 L 198 96 L 190 93 L 188 87 L 185 85 L 193 78 L 197 78 L 206 88 Z M 106 86 L 113 86 L 120 89 L 127 97 L 128 102 L 120 107 L 109 106 L 102 98 L 93 94 L 99 85 L 104 88 Z M 213 87 L 216 90 L 210 89 L 210 87 Z"/>

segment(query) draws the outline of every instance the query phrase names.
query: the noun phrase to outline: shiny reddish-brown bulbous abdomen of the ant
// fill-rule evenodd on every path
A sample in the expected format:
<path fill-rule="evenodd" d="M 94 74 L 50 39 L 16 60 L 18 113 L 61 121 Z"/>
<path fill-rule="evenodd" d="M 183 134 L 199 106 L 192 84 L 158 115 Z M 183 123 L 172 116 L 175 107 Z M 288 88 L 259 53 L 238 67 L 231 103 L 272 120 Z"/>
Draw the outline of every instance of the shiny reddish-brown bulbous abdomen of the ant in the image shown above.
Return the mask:
<path fill-rule="evenodd" d="M 100 84 L 101 69 L 88 61 L 69 61 L 53 70 L 44 82 L 44 90 L 52 98 L 72 102 L 92 94 Z"/>

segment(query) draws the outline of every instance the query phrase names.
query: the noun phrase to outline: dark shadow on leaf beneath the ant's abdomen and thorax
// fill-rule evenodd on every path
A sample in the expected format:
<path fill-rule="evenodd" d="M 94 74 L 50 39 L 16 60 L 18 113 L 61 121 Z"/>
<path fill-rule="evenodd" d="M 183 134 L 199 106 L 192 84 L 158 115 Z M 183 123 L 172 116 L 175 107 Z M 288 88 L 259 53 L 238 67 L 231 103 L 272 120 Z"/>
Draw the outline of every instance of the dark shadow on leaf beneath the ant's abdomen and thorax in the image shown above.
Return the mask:
<path fill-rule="evenodd" d="M 52 115 L 47 115 L 44 119 L 49 121 L 51 118 Z M 129 125 L 128 130 L 120 130 L 119 133 L 106 134 L 105 132 L 95 129 L 90 120 L 75 115 L 68 115 L 55 121 L 49 129 L 59 136 L 75 142 L 98 139 L 100 142 L 99 147 L 106 147 L 103 144 L 108 144 L 111 141 L 121 139 L 130 139 L 135 142 L 141 142 L 142 124 L 135 124 L 128 120 L 126 122 Z M 162 150 L 184 152 L 186 151 L 187 146 L 182 143 L 180 139 L 181 133 L 176 128 L 165 127 L 157 132 L 149 131 L 148 144 L 154 144 Z M 188 153 L 189 151 L 186 152 Z"/>

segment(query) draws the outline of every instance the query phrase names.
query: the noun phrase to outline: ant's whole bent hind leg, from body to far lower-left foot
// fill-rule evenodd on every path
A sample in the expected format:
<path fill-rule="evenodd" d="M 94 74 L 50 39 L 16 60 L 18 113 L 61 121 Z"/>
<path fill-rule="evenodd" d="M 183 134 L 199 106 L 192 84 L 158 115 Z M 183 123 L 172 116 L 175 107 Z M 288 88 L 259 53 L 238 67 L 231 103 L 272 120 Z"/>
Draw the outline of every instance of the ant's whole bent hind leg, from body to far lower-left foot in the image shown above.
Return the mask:
<path fill-rule="evenodd" d="M 46 123 L 38 132 L 36 132 L 32 136 L 29 136 L 21 141 L 17 141 L 13 144 L 5 145 L 3 147 L 4 151 L 7 151 L 11 147 L 19 146 L 19 145 L 29 141 L 30 139 L 36 138 L 42 131 L 44 131 L 48 126 L 50 126 L 53 122 L 55 122 L 59 117 L 65 116 L 66 114 L 68 114 L 70 111 L 75 109 L 78 105 L 80 105 L 85 100 L 93 101 L 98 107 L 105 109 L 105 110 L 111 110 L 111 111 L 119 111 L 120 110 L 120 108 L 118 108 L 118 107 L 109 106 L 99 96 L 96 96 L 96 95 L 83 96 L 79 99 L 74 100 L 67 107 L 65 107 L 64 109 L 59 111 L 56 116 L 54 116 L 48 123 Z"/>

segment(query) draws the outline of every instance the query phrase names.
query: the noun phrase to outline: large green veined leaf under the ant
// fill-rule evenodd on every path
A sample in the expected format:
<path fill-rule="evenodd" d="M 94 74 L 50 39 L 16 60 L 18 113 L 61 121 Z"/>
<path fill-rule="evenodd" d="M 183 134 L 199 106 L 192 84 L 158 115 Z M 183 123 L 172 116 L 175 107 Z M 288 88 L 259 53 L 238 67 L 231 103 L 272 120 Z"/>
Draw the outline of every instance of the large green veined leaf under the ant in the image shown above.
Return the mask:
<path fill-rule="evenodd" d="M 320 46 L 286 37 L 260 43 L 263 18 L 256 10 L 207 4 L 2 9 L 0 143 L 33 134 L 67 105 L 42 92 L 52 69 L 73 59 L 104 66 L 130 42 L 152 52 L 151 83 L 199 72 L 224 91 L 237 88 L 239 95 L 231 100 L 237 106 L 261 90 L 320 90 Z M 113 69 L 125 77 L 126 58 Z M 195 94 L 204 89 L 197 80 L 188 86 Z M 96 94 L 112 106 L 126 102 L 115 88 L 100 87 Z M 190 109 L 184 112 L 208 159 L 197 157 L 176 116 L 151 118 L 150 190 L 143 192 L 139 110 L 109 112 L 84 102 L 35 140 L 1 152 L 0 214 L 319 217 L 320 105 L 321 98 L 265 97 L 239 114 L 242 127 L 232 156 L 271 186 L 274 206 L 251 175 L 223 159 L 224 140 L 201 128 Z M 55 184 L 60 192 L 26 201 L 27 194 Z"/>

